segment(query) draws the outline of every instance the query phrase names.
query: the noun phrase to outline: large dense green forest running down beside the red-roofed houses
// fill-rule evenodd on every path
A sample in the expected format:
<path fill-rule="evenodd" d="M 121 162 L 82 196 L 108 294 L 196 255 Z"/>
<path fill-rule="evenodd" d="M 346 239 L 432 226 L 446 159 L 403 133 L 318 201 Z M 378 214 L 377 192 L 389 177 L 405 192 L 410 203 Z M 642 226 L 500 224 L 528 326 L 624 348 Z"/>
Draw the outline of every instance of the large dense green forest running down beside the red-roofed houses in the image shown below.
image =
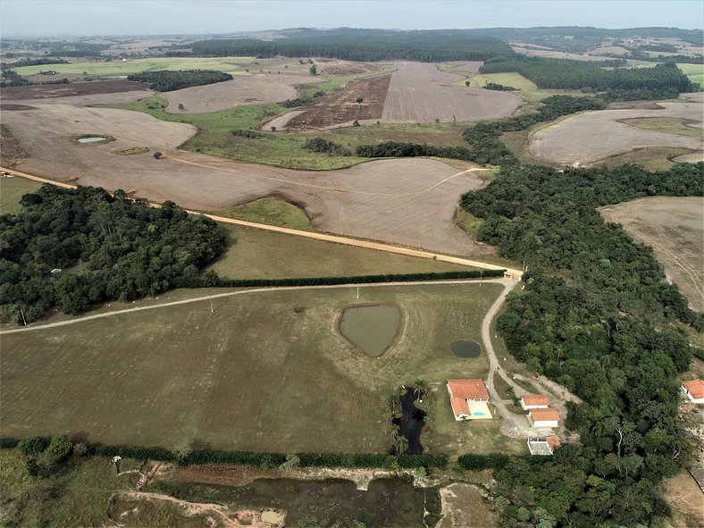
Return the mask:
<path fill-rule="evenodd" d="M 509 166 L 462 198 L 483 219 L 479 239 L 528 266 L 525 291 L 507 298 L 498 321 L 508 348 L 583 400 L 570 404 L 566 423 L 581 445 L 547 460 L 514 457 L 495 471 L 503 524 L 650 525 L 668 514 L 657 484 L 680 471 L 690 449 L 675 374 L 702 354 L 675 320 L 699 331 L 704 320 L 663 281 L 652 250 L 596 208 L 701 196 L 703 179 L 704 163 L 668 172 Z"/>

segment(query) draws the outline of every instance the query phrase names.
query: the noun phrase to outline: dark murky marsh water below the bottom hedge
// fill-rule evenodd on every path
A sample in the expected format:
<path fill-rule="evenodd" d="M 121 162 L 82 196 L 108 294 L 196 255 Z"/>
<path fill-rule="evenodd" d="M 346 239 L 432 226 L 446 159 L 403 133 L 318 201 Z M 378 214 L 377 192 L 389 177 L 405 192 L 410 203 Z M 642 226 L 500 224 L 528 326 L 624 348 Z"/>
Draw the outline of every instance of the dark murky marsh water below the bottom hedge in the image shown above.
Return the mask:
<path fill-rule="evenodd" d="M 161 482 L 157 482 L 157 487 Z M 233 507 L 275 508 L 286 511 L 287 526 L 366 526 L 411 528 L 423 526 L 424 512 L 438 520 L 440 499 L 435 488 L 414 488 L 405 479 L 376 479 L 368 490 L 357 490 L 342 479 L 301 481 L 259 479 L 246 486 L 179 483 L 180 499 L 218 502 Z"/>

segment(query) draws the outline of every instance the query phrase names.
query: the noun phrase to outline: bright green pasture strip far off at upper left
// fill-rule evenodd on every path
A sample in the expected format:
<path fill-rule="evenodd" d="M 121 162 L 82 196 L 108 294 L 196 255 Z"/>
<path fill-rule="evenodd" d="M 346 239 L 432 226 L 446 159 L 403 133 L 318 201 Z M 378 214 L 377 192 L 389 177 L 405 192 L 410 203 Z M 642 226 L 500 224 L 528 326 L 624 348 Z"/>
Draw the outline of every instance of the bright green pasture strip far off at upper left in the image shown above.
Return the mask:
<path fill-rule="evenodd" d="M 216 70 L 232 75 L 248 75 L 249 67 L 256 59 L 254 57 L 151 57 L 148 59 L 116 59 L 99 63 L 69 63 L 40 64 L 38 66 L 23 66 L 15 69 L 19 75 L 37 75 L 40 71 L 52 70 L 59 75 L 75 74 L 107 76 L 128 75 L 141 71 L 178 71 L 178 70 Z"/>

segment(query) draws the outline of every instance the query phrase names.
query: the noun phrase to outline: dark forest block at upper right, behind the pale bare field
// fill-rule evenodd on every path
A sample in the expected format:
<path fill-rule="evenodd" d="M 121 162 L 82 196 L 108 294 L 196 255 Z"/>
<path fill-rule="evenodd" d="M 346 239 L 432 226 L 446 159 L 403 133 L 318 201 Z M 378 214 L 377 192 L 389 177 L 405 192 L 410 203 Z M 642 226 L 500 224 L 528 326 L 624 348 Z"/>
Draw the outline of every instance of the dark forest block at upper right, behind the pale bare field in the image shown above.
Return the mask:
<path fill-rule="evenodd" d="M 487 61 L 482 73 L 517 71 L 538 88 L 588 89 L 606 92 L 608 100 L 673 98 L 694 91 L 687 76 L 675 64 L 657 64 L 652 68 L 615 68 L 603 70 L 600 63 L 515 56 Z"/>

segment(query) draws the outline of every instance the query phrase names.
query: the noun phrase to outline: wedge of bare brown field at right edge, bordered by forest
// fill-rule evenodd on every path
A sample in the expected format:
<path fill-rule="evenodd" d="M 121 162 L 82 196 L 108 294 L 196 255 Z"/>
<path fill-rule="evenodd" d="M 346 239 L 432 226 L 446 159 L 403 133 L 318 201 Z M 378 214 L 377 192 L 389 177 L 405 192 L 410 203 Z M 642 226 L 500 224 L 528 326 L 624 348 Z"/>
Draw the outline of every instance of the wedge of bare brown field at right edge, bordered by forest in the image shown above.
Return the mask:
<path fill-rule="evenodd" d="M 601 209 L 633 239 L 653 248 L 667 278 L 704 311 L 704 199 L 649 197 Z"/>

